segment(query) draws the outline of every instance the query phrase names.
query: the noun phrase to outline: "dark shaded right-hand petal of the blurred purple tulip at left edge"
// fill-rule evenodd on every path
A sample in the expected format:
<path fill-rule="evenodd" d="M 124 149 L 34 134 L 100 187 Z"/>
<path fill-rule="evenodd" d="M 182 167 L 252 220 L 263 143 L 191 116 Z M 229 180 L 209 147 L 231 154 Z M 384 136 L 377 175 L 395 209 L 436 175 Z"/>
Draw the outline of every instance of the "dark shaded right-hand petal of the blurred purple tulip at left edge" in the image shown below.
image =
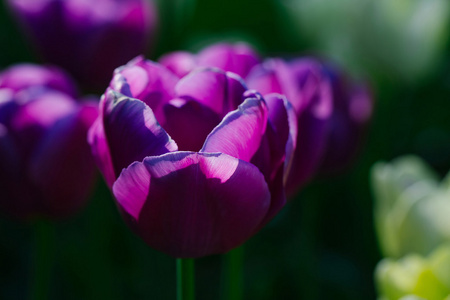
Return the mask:
<path fill-rule="evenodd" d="M 64 217 L 87 201 L 95 168 L 86 133 L 96 117 L 96 107 L 82 106 L 57 121 L 37 146 L 29 178 L 42 193 L 40 213 Z"/>

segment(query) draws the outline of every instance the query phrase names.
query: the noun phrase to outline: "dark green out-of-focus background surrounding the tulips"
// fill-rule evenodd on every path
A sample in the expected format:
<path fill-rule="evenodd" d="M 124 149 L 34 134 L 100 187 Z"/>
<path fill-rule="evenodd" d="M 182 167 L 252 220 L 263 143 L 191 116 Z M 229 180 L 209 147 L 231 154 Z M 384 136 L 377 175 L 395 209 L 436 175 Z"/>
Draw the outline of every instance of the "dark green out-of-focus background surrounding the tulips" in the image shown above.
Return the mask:
<path fill-rule="evenodd" d="M 188 8 L 176 12 L 173 2 L 160 2 L 159 41 L 149 58 L 221 39 L 247 39 L 265 56 L 320 50 L 289 30 L 276 1 L 197 0 L 192 16 Z M 0 45 L 1 68 L 37 61 L 4 7 Z M 414 83 L 367 73 L 376 109 L 363 153 L 346 174 L 314 180 L 246 243 L 245 299 L 375 298 L 372 274 L 380 253 L 369 170 L 378 160 L 413 153 L 441 174 L 447 172 L 449 50 L 447 43 L 439 67 Z M 36 242 L 39 236 L 47 241 L 43 246 Z M 44 255 L 37 259 L 36 253 Z M 197 260 L 198 299 L 220 298 L 220 264 L 220 256 Z M 0 298 L 26 299 L 32 291 L 42 292 L 34 286 L 35 266 L 51 271 L 50 278 L 39 279 L 49 283 L 50 299 L 175 298 L 175 260 L 128 230 L 101 180 L 88 207 L 69 220 L 25 224 L 0 219 Z"/>

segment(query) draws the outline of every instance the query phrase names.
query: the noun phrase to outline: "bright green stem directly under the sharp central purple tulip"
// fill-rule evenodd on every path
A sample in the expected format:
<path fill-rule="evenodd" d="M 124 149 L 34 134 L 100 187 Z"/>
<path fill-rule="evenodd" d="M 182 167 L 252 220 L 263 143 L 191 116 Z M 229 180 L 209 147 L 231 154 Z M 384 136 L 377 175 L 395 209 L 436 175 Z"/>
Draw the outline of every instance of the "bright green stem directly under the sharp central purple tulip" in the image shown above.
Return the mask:
<path fill-rule="evenodd" d="M 177 258 L 177 300 L 194 299 L 194 260 L 188 258 Z"/>

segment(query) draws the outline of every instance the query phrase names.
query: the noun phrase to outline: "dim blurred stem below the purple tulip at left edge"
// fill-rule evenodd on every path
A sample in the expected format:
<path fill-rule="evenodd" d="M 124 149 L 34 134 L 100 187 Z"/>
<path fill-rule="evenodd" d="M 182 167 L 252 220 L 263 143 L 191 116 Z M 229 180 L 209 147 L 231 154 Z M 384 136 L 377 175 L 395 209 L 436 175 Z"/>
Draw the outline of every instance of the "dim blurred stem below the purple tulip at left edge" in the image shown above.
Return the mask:
<path fill-rule="evenodd" d="M 48 299 L 55 250 L 55 228 L 53 224 L 46 220 L 36 221 L 33 227 L 34 265 L 31 299 Z"/>

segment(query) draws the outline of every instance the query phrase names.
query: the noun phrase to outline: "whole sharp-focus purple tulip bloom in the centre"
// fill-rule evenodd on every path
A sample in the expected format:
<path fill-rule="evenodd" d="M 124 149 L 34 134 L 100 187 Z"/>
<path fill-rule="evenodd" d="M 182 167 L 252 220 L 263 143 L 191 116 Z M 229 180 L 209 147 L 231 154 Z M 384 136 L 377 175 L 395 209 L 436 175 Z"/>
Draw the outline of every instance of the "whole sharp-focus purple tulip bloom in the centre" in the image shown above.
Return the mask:
<path fill-rule="evenodd" d="M 178 79 L 137 58 L 116 70 L 89 141 L 128 225 L 174 257 L 224 253 L 285 204 L 295 146 L 287 100 L 234 73 Z"/>

